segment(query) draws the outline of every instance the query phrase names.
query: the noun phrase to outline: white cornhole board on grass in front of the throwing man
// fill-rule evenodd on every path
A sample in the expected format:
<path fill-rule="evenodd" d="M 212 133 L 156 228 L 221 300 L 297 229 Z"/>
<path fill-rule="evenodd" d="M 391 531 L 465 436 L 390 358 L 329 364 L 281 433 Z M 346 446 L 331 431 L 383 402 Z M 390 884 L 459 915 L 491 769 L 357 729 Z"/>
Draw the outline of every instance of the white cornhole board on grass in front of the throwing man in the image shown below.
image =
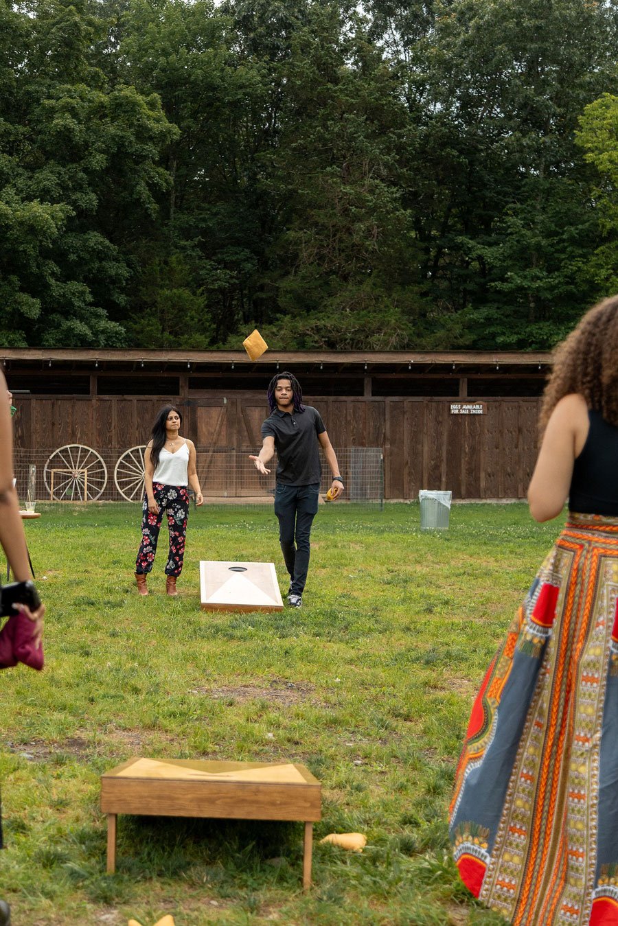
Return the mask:
<path fill-rule="evenodd" d="M 274 563 L 234 563 L 201 559 L 203 611 L 283 611 Z"/>

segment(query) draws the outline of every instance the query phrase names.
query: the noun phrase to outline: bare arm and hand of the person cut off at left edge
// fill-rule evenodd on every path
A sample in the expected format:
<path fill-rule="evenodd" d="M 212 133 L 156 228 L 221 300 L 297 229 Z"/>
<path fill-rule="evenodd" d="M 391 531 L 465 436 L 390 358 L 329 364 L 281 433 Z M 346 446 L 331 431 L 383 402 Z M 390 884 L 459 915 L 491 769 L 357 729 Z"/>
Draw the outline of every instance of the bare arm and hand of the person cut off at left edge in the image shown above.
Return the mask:
<path fill-rule="evenodd" d="M 0 394 L 4 394 L 6 381 L 0 372 Z M 26 536 L 19 515 L 18 494 L 13 485 L 13 428 L 9 403 L 0 402 L 0 544 L 6 553 L 8 565 L 18 582 L 32 579 Z M 20 610 L 33 621 L 32 638 L 38 644 L 43 633 L 44 605 L 36 611 L 20 606 Z"/>

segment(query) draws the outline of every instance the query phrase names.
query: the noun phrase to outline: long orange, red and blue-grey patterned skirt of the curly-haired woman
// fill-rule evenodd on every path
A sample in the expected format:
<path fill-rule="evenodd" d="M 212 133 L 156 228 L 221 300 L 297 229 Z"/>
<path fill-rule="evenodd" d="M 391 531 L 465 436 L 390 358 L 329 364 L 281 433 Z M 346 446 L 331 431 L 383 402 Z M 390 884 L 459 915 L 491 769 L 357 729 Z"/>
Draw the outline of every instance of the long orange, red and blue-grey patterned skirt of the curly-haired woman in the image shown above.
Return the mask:
<path fill-rule="evenodd" d="M 449 829 L 507 921 L 618 926 L 618 517 L 571 512 L 539 569 L 474 702 Z"/>

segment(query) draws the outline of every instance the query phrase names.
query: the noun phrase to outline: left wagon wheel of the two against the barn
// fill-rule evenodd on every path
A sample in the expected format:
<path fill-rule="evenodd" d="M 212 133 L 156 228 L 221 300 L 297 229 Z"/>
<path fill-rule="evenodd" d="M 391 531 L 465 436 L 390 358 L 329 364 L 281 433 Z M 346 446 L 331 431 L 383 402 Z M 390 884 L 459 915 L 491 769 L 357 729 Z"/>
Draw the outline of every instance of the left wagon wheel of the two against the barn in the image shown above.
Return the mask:
<path fill-rule="evenodd" d="M 107 466 L 92 447 L 65 444 L 47 458 L 43 479 L 52 500 L 94 502 L 107 485 Z"/>

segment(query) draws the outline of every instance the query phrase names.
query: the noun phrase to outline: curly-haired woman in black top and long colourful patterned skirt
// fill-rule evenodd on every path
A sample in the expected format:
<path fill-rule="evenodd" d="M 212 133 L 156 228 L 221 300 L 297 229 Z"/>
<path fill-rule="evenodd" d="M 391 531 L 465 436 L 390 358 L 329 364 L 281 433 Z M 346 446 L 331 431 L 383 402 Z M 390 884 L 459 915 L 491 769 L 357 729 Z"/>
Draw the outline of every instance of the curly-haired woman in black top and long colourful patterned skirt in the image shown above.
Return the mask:
<path fill-rule="evenodd" d="M 520 926 L 618 924 L 618 296 L 558 348 L 528 502 L 569 517 L 473 705 L 462 881 Z"/>

